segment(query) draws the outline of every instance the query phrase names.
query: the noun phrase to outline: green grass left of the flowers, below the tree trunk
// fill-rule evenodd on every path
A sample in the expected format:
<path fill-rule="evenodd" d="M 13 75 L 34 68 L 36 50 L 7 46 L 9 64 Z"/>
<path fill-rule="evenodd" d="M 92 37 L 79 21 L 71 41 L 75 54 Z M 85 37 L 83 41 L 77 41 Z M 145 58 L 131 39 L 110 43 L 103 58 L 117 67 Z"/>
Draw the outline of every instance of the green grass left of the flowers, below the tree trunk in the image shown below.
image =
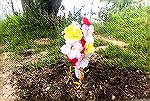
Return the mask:
<path fill-rule="evenodd" d="M 53 63 L 61 59 L 60 47 L 64 40 L 61 36 L 65 22 L 61 22 L 59 17 L 43 16 L 35 18 L 33 16 L 19 15 L 10 16 L 0 21 L 0 42 L 5 46 L 0 47 L 0 53 L 12 52 L 11 59 L 23 61 L 26 59 L 24 53 L 29 49 L 34 49 L 32 55 L 39 54 L 45 50 L 49 53 L 38 60 L 37 63 L 27 63 L 31 67 L 41 67 L 42 64 Z M 64 25 L 61 25 L 61 24 Z M 37 45 L 34 40 L 48 38 L 47 45 Z"/>

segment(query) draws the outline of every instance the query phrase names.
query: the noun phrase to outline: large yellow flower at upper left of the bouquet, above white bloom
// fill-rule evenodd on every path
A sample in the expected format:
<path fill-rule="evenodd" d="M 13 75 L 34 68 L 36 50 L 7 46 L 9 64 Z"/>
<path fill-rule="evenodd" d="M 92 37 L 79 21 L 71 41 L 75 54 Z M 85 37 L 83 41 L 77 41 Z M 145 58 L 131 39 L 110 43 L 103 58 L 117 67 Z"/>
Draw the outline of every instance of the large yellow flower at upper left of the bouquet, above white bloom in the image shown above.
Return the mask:
<path fill-rule="evenodd" d="M 74 25 L 66 27 L 64 33 L 65 40 L 79 41 L 83 36 L 82 31 Z"/>

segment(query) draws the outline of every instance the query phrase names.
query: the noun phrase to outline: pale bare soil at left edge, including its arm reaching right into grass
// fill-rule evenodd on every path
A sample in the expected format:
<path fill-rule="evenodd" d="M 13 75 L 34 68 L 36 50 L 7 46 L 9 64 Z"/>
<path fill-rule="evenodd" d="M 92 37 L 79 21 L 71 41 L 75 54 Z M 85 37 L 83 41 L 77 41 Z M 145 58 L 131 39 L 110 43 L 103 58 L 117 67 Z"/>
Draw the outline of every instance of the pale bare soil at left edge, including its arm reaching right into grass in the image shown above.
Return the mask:
<path fill-rule="evenodd" d="M 21 67 L 28 62 L 36 63 L 40 58 L 48 54 L 48 51 L 43 51 L 34 55 L 29 54 L 29 52 L 33 52 L 33 50 L 28 50 L 22 61 L 11 60 L 11 52 L 0 54 L 0 101 L 13 101 L 16 99 L 14 87 L 10 84 L 13 67 Z"/>

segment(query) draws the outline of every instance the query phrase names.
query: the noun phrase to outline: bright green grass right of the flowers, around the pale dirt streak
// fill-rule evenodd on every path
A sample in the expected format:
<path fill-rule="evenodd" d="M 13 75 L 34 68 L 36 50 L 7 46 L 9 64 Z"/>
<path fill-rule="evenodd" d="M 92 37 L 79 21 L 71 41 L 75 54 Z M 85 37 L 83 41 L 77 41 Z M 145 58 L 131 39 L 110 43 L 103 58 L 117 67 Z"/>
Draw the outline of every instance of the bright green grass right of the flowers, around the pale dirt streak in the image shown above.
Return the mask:
<path fill-rule="evenodd" d="M 123 50 L 110 46 L 105 51 L 98 52 L 124 68 L 136 68 L 150 71 L 148 40 L 150 39 L 150 7 L 125 8 L 112 14 L 112 21 L 103 25 L 95 24 L 96 32 L 111 36 L 128 43 L 128 49 Z"/>

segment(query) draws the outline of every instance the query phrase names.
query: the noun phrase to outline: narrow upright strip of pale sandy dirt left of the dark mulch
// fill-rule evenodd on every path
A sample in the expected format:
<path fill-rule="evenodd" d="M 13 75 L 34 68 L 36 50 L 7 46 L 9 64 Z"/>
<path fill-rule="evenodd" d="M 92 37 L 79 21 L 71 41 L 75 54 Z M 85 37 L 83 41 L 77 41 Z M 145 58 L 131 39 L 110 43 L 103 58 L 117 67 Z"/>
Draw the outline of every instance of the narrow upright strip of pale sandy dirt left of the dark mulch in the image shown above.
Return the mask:
<path fill-rule="evenodd" d="M 14 66 L 16 63 L 9 60 L 9 52 L 2 53 L 0 55 L 1 62 L 0 62 L 0 77 L 1 77 L 1 95 L 0 95 L 0 101 L 14 101 L 15 96 L 13 96 L 14 89 L 11 87 L 10 78 L 11 78 L 11 67 Z"/>

